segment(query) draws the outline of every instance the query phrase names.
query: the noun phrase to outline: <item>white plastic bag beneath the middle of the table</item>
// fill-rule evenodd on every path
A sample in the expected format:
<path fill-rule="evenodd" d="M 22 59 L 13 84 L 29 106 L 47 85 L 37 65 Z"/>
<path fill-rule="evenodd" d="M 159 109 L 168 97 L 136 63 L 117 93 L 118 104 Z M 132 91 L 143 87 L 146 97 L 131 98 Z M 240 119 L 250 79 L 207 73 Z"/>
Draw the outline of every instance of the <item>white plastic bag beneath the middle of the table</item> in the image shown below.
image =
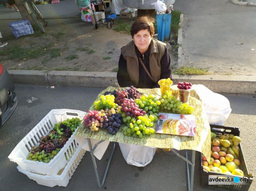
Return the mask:
<path fill-rule="evenodd" d="M 145 167 L 156 153 L 156 147 L 119 143 L 123 157 L 128 164 Z"/>

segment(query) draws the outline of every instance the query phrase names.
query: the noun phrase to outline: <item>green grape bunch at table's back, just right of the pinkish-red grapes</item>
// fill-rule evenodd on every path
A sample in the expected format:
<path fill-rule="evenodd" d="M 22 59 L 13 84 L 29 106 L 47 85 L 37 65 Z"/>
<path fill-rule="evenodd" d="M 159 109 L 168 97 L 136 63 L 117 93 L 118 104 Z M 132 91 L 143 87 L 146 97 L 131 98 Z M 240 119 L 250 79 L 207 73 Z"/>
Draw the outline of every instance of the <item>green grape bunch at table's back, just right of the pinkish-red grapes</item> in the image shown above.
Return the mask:
<path fill-rule="evenodd" d="M 144 94 L 140 99 L 136 99 L 135 103 L 139 105 L 140 109 L 146 112 L 153 111 L 153 113 L 159 113 L 159 105 L 161 104 L 154 94 Z"/>

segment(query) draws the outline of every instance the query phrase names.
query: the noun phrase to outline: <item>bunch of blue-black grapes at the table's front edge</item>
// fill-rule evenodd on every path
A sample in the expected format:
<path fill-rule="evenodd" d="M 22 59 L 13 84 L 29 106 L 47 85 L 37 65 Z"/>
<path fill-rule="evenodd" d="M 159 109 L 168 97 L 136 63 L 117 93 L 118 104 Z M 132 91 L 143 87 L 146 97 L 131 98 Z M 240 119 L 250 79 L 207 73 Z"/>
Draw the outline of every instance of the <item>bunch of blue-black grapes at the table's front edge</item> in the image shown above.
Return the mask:
<path fill-rule="evenodd" d="M 103 123 L 103 128 L 108 131 L 110 134 L 116 134 L 118 129 L 121 127 L 123 124 L 123 118 L 121 114 L 112 113 L 110 116 L 108 116 L 108 122 Z"/>

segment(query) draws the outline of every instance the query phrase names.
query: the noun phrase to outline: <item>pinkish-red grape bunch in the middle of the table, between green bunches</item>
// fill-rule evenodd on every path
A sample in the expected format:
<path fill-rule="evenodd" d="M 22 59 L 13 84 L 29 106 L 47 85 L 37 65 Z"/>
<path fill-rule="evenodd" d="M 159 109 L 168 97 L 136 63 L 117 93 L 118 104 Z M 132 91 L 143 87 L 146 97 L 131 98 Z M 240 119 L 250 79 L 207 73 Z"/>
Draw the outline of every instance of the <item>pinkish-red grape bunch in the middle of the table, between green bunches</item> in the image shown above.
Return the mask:
<path fill-rule="evenodd" d="M 121 111 L 125 112 L 126 116 L 136 117 L 146 114 L 146 111 L 140 109 L 133 99 L 124 98 L 121 107 Z"/>

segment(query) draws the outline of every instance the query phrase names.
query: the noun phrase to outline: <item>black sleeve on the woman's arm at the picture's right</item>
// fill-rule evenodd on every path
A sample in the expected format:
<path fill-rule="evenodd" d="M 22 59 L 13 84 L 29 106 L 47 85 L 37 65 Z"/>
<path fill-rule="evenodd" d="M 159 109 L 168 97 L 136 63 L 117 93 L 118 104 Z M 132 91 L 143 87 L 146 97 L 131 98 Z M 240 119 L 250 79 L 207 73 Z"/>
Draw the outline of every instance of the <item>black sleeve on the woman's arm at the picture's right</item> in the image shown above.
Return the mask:
<path fill-rule="evenodd" d="M 167 79 L 170 77 L 172 80 L 172 74 L 171 74 L 171 58 L 169 55 L 169 52 L 167 48 L 165 47 L 165 53 L 163 54 L 161 61 L 161 75 L 160 75 L 160 80 L 161 79 Z M 160 86 L 158 85 L 158 82 L 156 82 L 156 85 L 153 88 L 159 88 Z"/>

